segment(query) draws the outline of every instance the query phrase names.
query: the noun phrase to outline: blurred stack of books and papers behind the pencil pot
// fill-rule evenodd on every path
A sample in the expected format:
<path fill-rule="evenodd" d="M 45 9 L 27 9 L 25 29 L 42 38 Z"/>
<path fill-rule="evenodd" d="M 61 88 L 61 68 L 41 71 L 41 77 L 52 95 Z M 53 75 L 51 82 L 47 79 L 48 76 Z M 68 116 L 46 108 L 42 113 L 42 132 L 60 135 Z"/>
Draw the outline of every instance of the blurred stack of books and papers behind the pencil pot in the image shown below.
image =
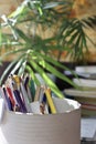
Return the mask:
<path fill-rule="evenodd" d="M 82 115 L 96 116 L 96 66 L 77 66 L 75 72 L 81 75 L 73 79 L 78 89 L 65 89 L 64 94 L 81 103 Z"/>

